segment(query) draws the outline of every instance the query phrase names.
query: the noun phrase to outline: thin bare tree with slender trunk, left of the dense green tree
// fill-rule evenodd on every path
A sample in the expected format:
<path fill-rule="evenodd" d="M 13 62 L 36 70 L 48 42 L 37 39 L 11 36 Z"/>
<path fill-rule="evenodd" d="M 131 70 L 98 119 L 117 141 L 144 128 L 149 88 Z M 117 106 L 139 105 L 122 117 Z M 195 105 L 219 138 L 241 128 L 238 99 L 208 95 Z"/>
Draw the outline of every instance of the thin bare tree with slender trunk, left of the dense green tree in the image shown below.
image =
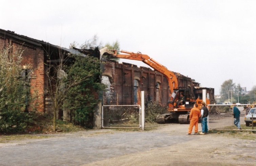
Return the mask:
<path fill-rule="evenodd" d="M 79 55 L 77 55 L 79 56 Z M 72 65 L 72 55 L 67 52 L 63 52 L 59 49 L 58 56 L 48 55 L 49 60 L 46 66 L 47 75 L 47 88 L 45 94 L 49 95 L 53 104 L 53 131 L 56 131 L 56 115 L 61 109 L 63 102 L 66 98 L 67 91 L 83 82 L 87 77 L 92 74 L 88 74 L 84 77 L 72 77 L 67 78 L 65 70 L 69 65 Z M 73 73 L 76 74 L 76 73 Z"/>

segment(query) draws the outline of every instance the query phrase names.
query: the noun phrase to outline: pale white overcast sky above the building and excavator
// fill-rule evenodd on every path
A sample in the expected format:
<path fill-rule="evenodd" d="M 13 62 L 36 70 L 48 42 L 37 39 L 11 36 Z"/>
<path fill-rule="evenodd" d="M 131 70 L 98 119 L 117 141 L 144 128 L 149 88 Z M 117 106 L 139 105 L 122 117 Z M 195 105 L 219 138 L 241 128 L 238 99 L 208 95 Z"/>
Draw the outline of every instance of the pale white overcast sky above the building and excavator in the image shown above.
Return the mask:
<path fill-rule="evenodd" d="M 256 85 L 255 0 L 0 0 L 0 28 L 68 48 L 97 35 L 214 88 Z M 122 60 L 149 67 L 140 61 Z"/>

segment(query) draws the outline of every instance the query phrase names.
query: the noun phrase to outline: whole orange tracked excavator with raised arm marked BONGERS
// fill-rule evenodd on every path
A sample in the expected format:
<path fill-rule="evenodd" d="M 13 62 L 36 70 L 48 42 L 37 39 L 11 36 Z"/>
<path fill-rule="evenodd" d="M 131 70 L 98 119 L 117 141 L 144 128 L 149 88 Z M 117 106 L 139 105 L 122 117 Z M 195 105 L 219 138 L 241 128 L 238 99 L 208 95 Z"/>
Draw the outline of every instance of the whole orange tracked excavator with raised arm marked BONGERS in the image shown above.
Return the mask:
<path fill-rule="evenodd" d="M 119 52 L 124 54 L 119 54 Z M 188 111 L 193 108 L 195 103 L 202 105 L 202 99 L 198 98 L 197 100 L 195 100 L 193 96 L 190 97 L 190 94 L 188 94 L 188 88 L 178 87 L 178 80 L 174 72 L 168 70 L 166 67 L 155 61 L 153 58 L 150 58 L 148 55 L 142 54 L 140 52 L 134 53 L 123 50 L 109 50 L 106 47 L 100 50 L 100 58 L 103 55 L 111 58 L 123 58 L 142 61 L 143 63 L 154 68 L 156 71 L 162 73 L 167 78 L 171 90 L 171 96 L 168 101 L 168 111 L 170 113 L 157 116 L 157 123 L 166 123 L 169 120 L 175 120 L 178 121 L 180 124 L 187 124 L 190 122 Z M 185 95 L 186 100 L 183 104 L 177 103 L 180 94 Z"/>

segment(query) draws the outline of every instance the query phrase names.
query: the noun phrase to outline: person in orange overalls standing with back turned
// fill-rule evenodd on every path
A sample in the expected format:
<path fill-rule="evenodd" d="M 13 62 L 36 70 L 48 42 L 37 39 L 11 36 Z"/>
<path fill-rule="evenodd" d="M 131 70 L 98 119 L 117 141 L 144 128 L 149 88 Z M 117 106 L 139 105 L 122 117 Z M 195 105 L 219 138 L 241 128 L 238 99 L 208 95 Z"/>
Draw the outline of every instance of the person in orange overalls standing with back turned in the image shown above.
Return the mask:
<path fill-rule="evenodd" d="M 195 125 L 195 135 L 198 135 L 198 119 L 201 117 L 201 112 L 197 107 L 198 107 L 198 104 L 195 103 L 194 108 L 192 108 L 191 111 L 190 111 L 189 132 L 186 135 L 191 135 L 194 125 Z"/>

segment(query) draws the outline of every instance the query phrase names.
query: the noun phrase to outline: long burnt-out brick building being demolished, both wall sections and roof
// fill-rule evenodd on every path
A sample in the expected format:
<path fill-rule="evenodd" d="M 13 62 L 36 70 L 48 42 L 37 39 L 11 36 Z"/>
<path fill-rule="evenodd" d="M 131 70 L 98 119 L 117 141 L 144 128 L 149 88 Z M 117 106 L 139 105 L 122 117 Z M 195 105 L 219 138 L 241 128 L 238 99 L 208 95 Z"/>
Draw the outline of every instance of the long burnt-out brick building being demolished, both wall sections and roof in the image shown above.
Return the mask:
<path fill-rule="evenodd" d="M 86 54 L 79 49 L 62 48 L 44 41 L 16 34 L 12 31 L 0 29 L 0 49 L 7 48 L 8 46 L 12 46 L 12 51 L 19 48 L 24 51 L 22 65 L 24 69 L 32 71 L 30 81 L 31 87 L 33 88 L 31 93 L 34 91 L 38 93 L 38 106 L 34 109 L 35 111 L 46 113 L 50 111 L 47 109 L 51 101 L 48 101 L 49 98 L 44 94 L 47 86 L 45 68 L 47 68 L 50 62 L 58 61 L 60 52 Z M 51 57 L 51 60 L 49 60 L 48 56 Z M 119 64 L 113 61 L 102 63 L 101 69 L 103 71 L 102 83 L 107 85 L 106 91 L 103 92 L 102 103 L 104 105 L 140 104 L 140 92 L 144 91 L 145 103 L 153 102 L 167 106 L 170 90 L 168 81 L 163 74 L 150 68 L 138 68 L 136 65 L 127 63 Z M 199 83 L 189 77 L 179 73 L 175 74 L 178 79 L 178 86 L 188 88 L 191 93 L 194 91 L 194 85 L 199 85 Z M 214 95 L 214 90 L 212 92 L 210 93 Z M 200 97 L 196 96 L 197 94 L 194 95 L 196 98 Z M 63 114 L 60 114 L 60 116 L 63 116 Z"/>

